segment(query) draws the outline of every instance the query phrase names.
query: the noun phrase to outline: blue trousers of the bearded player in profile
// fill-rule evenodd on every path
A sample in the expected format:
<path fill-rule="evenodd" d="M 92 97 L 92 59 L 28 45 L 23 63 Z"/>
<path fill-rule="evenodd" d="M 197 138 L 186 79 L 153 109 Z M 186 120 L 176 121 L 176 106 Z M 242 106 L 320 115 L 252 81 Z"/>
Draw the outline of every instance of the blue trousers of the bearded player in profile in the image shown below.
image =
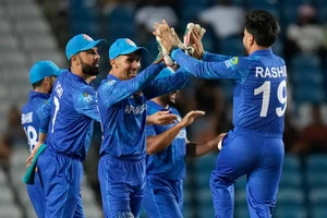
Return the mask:
<path fill-rule="evenodd" d="M 46 218 L 84 218 L 81 160 L 47 148 L 39 156 L 37 167 L 45 189 Z"/>

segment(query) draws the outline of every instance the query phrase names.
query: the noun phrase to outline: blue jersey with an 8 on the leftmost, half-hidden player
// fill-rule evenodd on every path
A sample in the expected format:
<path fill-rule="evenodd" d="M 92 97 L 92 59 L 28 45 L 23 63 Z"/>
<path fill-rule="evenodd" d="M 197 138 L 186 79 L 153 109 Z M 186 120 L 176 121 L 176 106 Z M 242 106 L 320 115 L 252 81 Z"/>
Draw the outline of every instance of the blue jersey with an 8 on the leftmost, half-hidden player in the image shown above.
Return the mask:
<path fill-rule="evenodd" d="M 44 107 L 49 94 L 31 90 L 28 95 L 28 102 L 22 109 L 22 125 L 26 133 L 29 152 L 32 152 L 38 142 L 38 130 L 40 125 L 40 109 Z"/>

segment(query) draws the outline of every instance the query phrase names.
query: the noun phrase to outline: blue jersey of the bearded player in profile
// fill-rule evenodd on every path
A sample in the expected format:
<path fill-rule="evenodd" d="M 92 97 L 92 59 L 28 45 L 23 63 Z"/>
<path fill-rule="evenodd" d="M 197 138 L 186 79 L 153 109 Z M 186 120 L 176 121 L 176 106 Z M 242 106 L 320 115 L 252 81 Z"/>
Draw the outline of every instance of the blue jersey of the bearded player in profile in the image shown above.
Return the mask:
<path fill-rule="evenodd" d="M 84 78 L 66 70 L 55 82 L 50 99 L 48 149 L 84 160 L 92 140 L 94 120 L 100 121 L 96 92 Z M 45 125 L 46 122 L 40 131 L 47 129 Z"/>

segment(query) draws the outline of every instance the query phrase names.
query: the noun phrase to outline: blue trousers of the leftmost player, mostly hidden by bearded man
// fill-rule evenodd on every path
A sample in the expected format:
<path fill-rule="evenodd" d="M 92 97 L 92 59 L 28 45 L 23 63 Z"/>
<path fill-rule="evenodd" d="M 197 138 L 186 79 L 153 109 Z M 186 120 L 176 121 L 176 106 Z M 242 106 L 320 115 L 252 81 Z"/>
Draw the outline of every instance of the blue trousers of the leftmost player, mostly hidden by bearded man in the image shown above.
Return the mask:
<path fill-rule="evenodd" d="M 39 179 L 39 173 L 35 172 L 34 184 L 27 184 L 27 194 L 36 213 L 36 216 L 44 218 L 46 214 L 45 190 Z"/>

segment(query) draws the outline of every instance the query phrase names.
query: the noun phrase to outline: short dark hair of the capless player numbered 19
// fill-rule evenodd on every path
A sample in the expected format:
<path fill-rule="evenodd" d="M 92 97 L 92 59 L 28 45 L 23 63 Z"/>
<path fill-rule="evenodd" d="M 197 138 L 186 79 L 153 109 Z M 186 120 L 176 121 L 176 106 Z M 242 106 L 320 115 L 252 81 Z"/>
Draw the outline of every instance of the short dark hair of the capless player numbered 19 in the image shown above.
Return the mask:
<path fill-rule="evenodd" d="M 246 14 L 245 29 L 253 35 L 256 44 L 263 47 L 272 46 L 280 32 L 277 19 L 263 10 L 253 10 Z"/>

